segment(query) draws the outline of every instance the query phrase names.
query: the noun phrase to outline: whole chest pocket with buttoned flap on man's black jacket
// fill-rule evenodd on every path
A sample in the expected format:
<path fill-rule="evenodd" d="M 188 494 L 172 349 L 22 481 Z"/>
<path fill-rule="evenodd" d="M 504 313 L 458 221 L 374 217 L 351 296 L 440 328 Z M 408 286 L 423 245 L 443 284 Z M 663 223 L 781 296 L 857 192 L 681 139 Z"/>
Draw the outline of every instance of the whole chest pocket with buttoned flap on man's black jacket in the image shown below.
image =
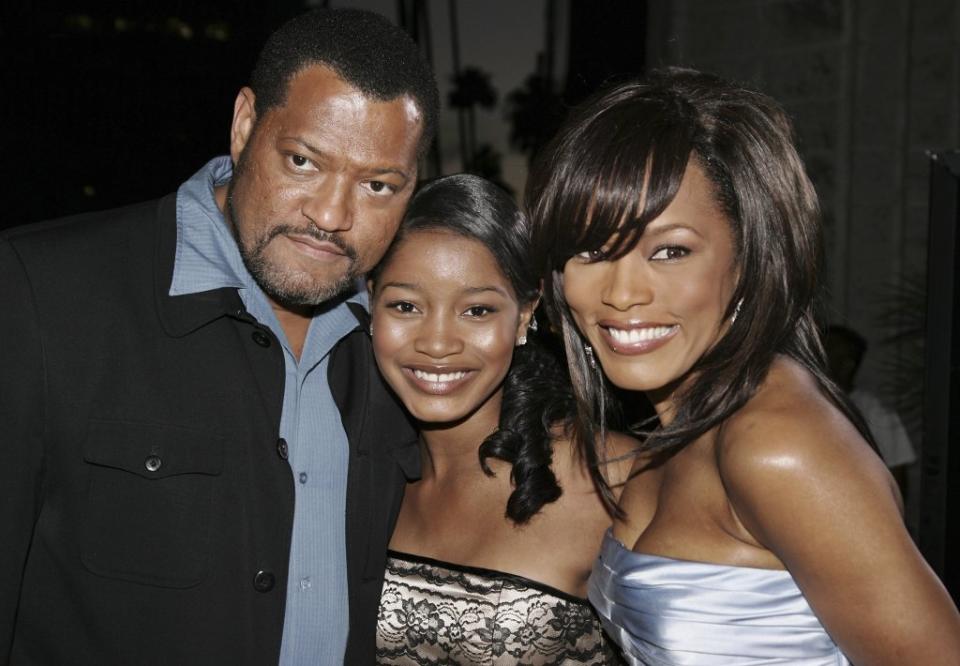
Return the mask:
<path fill-rule="evenodd" d="M 91 421 L 81 559 L 91 572 L 149 585 L 199 584 L 223 440 L 169 425 Z"/>

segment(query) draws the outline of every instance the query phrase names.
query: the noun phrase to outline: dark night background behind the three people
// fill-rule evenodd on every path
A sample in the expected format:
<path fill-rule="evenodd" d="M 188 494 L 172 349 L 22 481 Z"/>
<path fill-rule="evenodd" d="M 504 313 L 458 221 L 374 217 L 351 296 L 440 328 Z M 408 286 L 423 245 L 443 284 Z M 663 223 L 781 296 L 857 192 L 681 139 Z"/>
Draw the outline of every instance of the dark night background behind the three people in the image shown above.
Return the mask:
<path fill-rule="evenodd" d="M 6 0 L 0 229 L 160 196 L 226 152 L 233 100 L 260 46 L 306 4 Z M 938 571 L 960 566 L 951 564 L 960 546 L 948 531 L 960 506 L 958 433 L 944 420 L 960 411 L 960 323 L 953 292 L 943 288 L 945 276 L 956 281 L 958 274 L 950 234 L 960 196 L 943 183 L 960 168 L 941 174 L 931 226 L 926 155 L 960 143 L 957 3 L 543 0 L 543 49 L 536 62 L 517 62 L 526 84 L 516 90 L 496 90 L 482 53 L 461 58 L 457 31 L 470 37 L 470 21 L 451 21 L 444 26 L 450 34 L 431 25 L 431 9 L 455 16 L 455 0 L 381 4 L 428 55 L 441 33 L 453 41 L 456 80 L 443 102 L 459 133 L 444 139 L 444 154 L 459 151 L 456 170 L 501 177 L 502 156 L 484 143 L 478 114 L 489 119 L 503 107 L 499 120 L 509 125 L 511 145 L 529 157 L 571 104 L 649 66 L 699 66 L 781 100 L 796 120 L 825 211 L 824 319 L 870 340 L 862 383 L 901 411 L 923 456 L 911 470 L 908 523 Z M 488 6 L 498 20 L 511 20 L 511 3 Z M 450 63 L 435 64 L 449 71 Z M 424 174 L 454 170 L 449 164 L 438 146 Z M 933 291 L 928 264 L 939 271 Z M 932 336 L 931 311 L 946 327 Z M 940 384 L 930 383 L 931 364 L 950 369 Z M 956 595 L 956 570 L 946 573 Z"/>

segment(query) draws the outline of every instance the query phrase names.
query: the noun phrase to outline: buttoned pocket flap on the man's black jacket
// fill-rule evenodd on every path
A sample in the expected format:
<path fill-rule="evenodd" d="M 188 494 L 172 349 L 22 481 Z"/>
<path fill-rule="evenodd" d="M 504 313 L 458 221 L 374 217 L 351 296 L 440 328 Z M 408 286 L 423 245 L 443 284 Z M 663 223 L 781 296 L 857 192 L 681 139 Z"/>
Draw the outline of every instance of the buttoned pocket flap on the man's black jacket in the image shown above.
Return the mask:
<path fill-rule="evenodd" d="M 83 459 L 145 479 L 215 476 L 223 466 L 223 438 L 179 426 L 96 419 L 87 427 Z"/>

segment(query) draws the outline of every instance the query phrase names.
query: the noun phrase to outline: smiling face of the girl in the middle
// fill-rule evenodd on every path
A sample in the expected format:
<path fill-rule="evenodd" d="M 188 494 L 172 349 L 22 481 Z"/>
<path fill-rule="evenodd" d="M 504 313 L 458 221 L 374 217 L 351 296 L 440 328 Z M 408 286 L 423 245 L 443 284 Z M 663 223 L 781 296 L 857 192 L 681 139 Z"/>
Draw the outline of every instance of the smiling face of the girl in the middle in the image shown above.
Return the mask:
<path fill-rule="evenodd" d="M 454 423 L 480 412 L 496 427 L 526 320 L 482 243 L 437 230 L 403 237 L 379 275 L 371 312 L 377 363 L 414 418 Z"/>

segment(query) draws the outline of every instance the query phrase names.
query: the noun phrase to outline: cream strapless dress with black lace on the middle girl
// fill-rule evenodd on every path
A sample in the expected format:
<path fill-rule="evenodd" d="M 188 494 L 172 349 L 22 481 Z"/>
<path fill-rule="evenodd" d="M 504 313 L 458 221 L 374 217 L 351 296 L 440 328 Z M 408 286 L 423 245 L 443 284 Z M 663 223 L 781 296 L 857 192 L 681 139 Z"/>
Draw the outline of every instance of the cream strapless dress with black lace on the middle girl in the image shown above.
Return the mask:
<path fill-rule="evenodd" d="M 391 551 L 378 664 L 620 664 L 593 609 L 536 581 Z"/>

